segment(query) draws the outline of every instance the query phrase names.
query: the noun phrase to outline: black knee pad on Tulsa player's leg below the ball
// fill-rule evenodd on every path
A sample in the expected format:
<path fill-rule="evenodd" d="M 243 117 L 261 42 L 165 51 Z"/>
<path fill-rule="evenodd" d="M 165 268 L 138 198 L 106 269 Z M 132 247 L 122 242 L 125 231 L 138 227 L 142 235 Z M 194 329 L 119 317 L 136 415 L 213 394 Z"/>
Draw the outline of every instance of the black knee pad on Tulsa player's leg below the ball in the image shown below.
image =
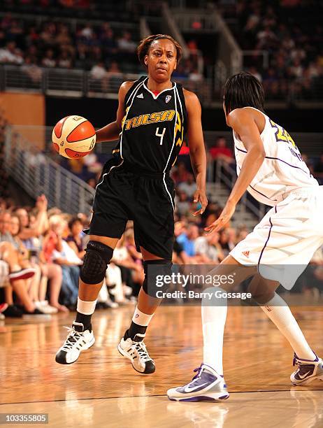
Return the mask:
<path fill-rule="evenodd" d="M 85 284 L 99 284 L 106 276 L 106 268 L 112 259 L 113 248 L 98 241 L 89 241 L 85 251 L 80 278 Z"/>

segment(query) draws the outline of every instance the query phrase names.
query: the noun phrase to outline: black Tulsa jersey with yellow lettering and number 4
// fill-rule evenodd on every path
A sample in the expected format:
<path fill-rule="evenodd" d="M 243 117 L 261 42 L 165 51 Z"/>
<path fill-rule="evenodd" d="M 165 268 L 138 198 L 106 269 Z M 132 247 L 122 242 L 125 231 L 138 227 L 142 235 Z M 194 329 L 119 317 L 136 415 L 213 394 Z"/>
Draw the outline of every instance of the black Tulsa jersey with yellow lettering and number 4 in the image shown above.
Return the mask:
<path fill-rule="evenodd" d="M 124 164 L 143 171 L 166 172 L 175 163 L 187 131 L 182 85 L 153 94 L 141 77 L 124 99 L 126 114 L 117 150 Z"/>

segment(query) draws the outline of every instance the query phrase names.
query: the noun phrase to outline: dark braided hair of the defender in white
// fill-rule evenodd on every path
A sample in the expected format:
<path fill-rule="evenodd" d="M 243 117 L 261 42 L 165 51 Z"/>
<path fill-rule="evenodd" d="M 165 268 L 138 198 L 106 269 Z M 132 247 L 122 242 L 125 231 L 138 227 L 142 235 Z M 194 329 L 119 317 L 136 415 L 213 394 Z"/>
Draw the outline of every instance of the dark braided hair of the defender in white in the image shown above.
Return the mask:
<path fill-rule="evenodd" d="M 229 114 L 235 108 L 254 107 L 264 112 L 264 88 L 250 73 L 231 76 L 224 85 L 224 106 Z"/>

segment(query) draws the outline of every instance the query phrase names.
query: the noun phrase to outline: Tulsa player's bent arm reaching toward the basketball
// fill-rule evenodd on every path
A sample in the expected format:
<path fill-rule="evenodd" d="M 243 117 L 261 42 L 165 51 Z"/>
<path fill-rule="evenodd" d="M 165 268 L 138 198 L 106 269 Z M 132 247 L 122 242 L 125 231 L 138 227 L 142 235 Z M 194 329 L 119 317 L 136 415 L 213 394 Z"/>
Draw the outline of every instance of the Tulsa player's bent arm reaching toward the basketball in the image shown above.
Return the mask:
<path fill-rule="evenodd" d="M 117 108 L 117 117 L 114 122 L 107 124 L 105 127 L 96 131 L 96 143 L 102 143 L 102 141 L 113 141 L 119 138 L 119 134 L 122 128 L 122 119 L 124 117 L 124 97 L 127 92 L 134 85 L 134 82 L 124 82 L 120 86 L 118 99 L 119 106 Z"/>

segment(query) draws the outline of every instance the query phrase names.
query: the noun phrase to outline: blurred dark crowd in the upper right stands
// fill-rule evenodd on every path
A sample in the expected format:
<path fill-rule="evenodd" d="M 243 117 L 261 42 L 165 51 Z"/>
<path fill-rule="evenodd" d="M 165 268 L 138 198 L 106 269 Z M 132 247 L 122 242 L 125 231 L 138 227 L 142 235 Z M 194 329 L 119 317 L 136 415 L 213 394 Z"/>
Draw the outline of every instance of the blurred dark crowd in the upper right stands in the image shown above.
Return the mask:
<path fill-rule="evenodd" d="M 323 7 L 317 1 L 220 1 L 224 17 L 243 50 L 245 66 L 262 81 L 271 99 L 317 99 L 323 90 Z M 230 22 L 230 20 L 229 20 Z M 231 21 L 232 22 L 232 21 Z M 268 52 L 266 56 L 261 51 Z"/>

